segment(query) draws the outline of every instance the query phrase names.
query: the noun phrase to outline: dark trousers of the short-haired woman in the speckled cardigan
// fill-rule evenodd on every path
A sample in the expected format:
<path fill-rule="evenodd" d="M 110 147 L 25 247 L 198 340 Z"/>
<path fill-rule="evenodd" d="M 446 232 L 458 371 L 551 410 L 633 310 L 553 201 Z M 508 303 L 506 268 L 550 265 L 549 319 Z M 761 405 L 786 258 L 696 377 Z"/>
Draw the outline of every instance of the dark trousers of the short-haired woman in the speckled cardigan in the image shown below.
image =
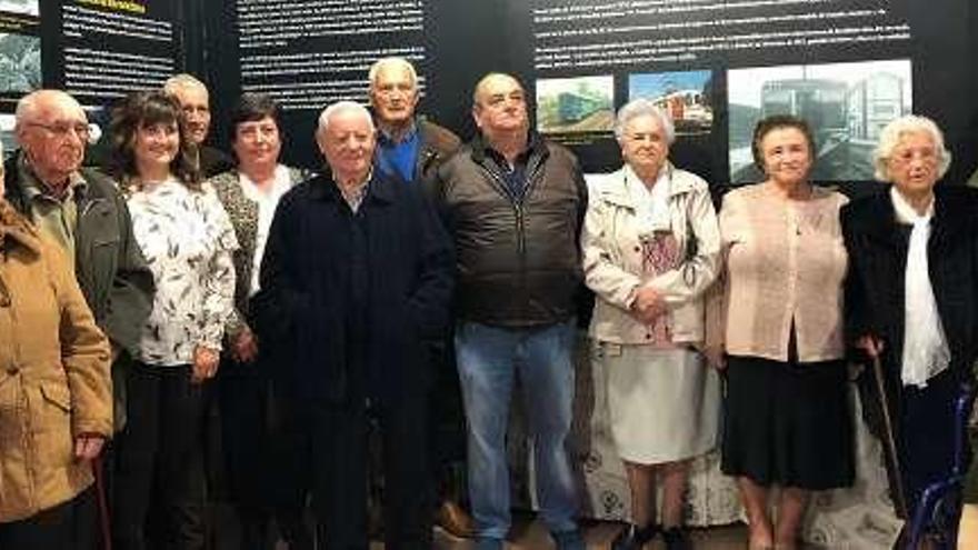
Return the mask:
<path fill-rule="evenodd" d="M 268 546 L 275 517 L 291 548 L 311 544 L 303 514 L 308 494 L 308 442 L 301 437 L 281 383 L 262 358 L 224 361 L 219 382 L 221 444 L 229 497 L 241 522 L 241 548 Z"/>

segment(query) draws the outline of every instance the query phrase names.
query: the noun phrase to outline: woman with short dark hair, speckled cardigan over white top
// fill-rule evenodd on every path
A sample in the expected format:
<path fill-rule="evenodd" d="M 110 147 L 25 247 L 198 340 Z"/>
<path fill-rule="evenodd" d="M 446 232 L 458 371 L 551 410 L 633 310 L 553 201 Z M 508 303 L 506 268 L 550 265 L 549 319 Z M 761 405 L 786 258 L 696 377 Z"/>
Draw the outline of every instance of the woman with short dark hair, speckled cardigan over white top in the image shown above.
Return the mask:
<path fill-rule="evenodd" d="M 289 403 L 280 399 L 282 384 L 289 381 L 281 353 L 288 350 L 276 349 L 273 341 L 259 342 L 249 308 L 259 290 L 259 266 L 279 199 L 309 176 L 279 162 L 283 139 L 279 117 L 269 96 L 241 96 L 230 124 L 238 166 L 208 180 L 241 244 L 234 252 L 234 309 L 218 388 L 229 488 L 241 521 L 241 548 L 249 550 L 267 546 L 270 512 L 292 548 L 311 544 L 302 523 L 305 444 Z M 277 420 L 275 426 L 270 418 Z"/>

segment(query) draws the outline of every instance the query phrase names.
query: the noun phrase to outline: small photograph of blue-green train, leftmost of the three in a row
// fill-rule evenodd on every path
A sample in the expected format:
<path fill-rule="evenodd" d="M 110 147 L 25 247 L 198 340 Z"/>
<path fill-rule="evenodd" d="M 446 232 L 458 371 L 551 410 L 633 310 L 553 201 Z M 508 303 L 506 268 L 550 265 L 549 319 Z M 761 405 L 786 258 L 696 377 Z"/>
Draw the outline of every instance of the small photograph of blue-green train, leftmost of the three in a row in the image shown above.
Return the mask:
<path fill-rule="evenodd" d="M 613 126 L 613 77 L 537 80 L 537 131 L 540 133 L 609 133 Z"/>

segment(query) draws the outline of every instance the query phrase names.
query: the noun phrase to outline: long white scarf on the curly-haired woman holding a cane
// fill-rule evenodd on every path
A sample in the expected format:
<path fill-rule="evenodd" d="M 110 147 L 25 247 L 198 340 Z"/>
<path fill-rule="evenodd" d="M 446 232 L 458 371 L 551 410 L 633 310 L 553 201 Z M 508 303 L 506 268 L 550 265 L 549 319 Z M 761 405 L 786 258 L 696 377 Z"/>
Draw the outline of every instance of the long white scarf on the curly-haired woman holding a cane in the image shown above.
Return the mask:
<path fill-rule="evenodd" d="M 914 226 L 905 273 L 904 357 L 900 379 L 904 386 L 924 388 L 927 380 L 947 369 L 951 360 L 927 266 L 927 241 L 930 238 L 934 202 L 920 216 L 896 188 L 890 188 L 890 199 L 897 220 Z"/>

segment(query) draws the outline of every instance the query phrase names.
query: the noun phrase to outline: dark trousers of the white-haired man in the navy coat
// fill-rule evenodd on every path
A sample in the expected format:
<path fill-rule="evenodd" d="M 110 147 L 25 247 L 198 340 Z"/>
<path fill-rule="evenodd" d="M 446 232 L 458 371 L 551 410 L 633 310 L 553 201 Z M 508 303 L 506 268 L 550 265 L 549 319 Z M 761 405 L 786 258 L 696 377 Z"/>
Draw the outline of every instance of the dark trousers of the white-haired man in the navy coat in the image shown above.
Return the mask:
<path fill-rule="evenodd" d="M 366 400 L 306 408 L 311 441 L 312 503 L 325 548 L 366 549 L 367 436 Z M 385 548 L 431 548 L 428 400 L 409 396 L 371 409 L 380 428 L 385 476 Z"/>

